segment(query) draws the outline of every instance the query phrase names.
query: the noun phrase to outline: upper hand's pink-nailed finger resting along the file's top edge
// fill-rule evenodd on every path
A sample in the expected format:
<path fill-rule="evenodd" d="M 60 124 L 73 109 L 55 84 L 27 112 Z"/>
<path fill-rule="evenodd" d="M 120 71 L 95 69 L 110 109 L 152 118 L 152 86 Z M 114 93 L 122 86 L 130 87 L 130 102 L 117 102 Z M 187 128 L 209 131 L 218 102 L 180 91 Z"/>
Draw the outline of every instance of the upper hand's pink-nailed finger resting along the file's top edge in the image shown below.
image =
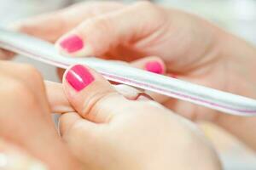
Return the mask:
<path fill-rule="evenodd" d="M 129 45 L 158 29 L 150 20 L 163 19 L 153 4 L 145 1 L 112 13 L 85 20 L 56 42 L 62 54 L 102 56 L 119 44 Z"/>

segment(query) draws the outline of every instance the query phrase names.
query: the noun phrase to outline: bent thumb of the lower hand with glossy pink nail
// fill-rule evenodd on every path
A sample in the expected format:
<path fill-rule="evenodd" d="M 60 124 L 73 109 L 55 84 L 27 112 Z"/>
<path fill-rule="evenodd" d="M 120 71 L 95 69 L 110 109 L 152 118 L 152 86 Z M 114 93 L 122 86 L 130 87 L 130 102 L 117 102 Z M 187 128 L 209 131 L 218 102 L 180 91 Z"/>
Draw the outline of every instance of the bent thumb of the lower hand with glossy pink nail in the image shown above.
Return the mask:
<path fill-rule="evenodd" d="M 116 112 L 113 110 L 125 105 L 126 99 L 99 73 L 85 65 L 67 69 L 63 87 L 73 108 L 91 122 L 109 122 Z"/>

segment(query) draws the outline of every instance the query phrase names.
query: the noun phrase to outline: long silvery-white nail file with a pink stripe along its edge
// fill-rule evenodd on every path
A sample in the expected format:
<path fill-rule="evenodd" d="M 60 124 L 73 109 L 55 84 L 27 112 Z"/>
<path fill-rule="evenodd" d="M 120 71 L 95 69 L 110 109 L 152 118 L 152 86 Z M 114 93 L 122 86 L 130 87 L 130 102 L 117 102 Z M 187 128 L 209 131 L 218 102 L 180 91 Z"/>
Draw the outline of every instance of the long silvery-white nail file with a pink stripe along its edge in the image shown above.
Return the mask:
<path fill-rule="evenodd" d="M 0 29 L 0 48 L 61 68 L 67 68 L 74 64 L 89 65 L 113 82 L 147 89 L 232 115 L 256 116 L 255 99 L 225 93 L 102 59 L 63 57 L 61 54 L 57 54 L 53 44 L 18 32 Z"/>

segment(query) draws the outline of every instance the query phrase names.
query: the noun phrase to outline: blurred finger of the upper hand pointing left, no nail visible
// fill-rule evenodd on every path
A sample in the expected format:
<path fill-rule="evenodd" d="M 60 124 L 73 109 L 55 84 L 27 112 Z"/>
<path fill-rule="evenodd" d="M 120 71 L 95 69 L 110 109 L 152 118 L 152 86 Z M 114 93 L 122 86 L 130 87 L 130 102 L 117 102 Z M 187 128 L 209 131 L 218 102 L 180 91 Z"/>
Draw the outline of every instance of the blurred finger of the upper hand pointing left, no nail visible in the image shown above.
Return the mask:
<path fill-rule="evenodd" d="M 20 20 L 15 22 L 12 27 L 15 27 L 17 31 L 55 42 L 62 34 L 78 26 L 83 20 L 122 7 L 121 3 L 114 2 L 78 3 L 49 14 Z"/>

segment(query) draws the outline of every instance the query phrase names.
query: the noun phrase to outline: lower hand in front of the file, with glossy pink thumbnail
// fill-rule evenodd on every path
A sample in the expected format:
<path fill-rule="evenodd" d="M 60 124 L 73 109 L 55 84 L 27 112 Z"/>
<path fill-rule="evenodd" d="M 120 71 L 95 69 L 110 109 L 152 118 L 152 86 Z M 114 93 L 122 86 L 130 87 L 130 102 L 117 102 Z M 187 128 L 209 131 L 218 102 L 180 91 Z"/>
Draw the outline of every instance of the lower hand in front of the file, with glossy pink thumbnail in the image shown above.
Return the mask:
<path fill-rule="evenodd" d="M 70 68 L 63 81 L 77 112 L 61 115 L 60 132 L 84 169 L 220 169 L 195 125 L 147 97 L 125 99 L 83 65 Z"/>

